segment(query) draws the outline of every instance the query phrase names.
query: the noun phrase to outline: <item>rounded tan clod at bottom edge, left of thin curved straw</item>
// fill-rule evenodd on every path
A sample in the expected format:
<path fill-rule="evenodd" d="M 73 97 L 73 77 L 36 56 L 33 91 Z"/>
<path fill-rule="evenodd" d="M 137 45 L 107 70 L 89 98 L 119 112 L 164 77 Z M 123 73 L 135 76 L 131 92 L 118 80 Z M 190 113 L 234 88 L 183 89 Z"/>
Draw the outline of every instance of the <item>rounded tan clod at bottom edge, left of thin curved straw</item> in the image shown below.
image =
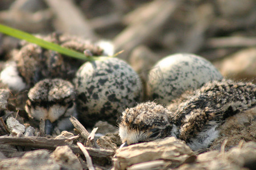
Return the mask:
<path fill-rule="evenodd" d="M 51 158 L 60 164 L 61 169 L 82 169 L 79 159 L 67 145 L 58 146 L 51 154 Z"/>

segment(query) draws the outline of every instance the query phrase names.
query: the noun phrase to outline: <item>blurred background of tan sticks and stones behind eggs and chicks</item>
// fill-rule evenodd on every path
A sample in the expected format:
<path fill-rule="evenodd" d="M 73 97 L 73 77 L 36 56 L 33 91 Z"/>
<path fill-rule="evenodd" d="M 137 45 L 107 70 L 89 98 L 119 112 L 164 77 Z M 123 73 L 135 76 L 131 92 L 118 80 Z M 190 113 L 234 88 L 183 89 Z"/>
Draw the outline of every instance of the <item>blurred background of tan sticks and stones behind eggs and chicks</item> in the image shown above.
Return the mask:
<path fill-rule="evenodd" d="M 138 72 L 170 54 L 195 53 L 225 77 L 255 83 L 255 0 L 1 0 L 0 23 L 110 40 Z M 1 62 L 18 42 L 0 33 Z"/>

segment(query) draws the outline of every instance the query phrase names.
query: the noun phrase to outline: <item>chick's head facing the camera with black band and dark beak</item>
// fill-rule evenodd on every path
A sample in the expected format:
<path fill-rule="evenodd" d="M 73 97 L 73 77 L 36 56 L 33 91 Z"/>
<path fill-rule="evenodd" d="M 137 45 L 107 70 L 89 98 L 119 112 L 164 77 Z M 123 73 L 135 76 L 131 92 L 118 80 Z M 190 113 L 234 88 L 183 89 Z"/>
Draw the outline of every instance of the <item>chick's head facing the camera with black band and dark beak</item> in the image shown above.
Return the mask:
<path fill-rule="evenodd" d="M 25 109 L 35 120 L 46 120 L 46 134 L 72 128 L 69 117 L 77 117 L 73 85 L 63 79 L 44 79 L 28 92 Z"/>

